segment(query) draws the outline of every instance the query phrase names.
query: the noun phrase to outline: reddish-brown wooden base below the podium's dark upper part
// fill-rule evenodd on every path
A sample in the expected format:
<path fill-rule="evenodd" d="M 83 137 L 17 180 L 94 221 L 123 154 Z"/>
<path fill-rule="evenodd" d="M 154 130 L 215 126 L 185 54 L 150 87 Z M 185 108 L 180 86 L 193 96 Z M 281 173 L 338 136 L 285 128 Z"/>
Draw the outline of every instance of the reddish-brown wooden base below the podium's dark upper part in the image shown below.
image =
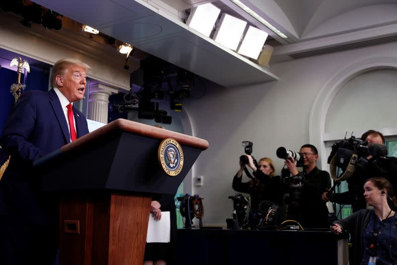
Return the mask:
<path fill-rule="evenodd" d="M 60 265 L 142 265 L 150 196 L 78 194 L 60 202 Z"/>

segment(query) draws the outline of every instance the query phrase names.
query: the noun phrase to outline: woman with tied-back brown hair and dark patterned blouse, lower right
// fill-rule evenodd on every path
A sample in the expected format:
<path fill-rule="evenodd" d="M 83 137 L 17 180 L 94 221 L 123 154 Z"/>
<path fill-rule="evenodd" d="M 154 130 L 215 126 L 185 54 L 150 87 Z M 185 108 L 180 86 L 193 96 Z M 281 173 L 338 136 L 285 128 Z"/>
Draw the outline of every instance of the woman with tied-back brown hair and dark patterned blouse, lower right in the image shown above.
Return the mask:
<path fill-rule="evenodd" d="M 364 184 L 364 197 L 372 210 L 359 210 L 337 220 L 331 232 L 349 230 L 354 242 L 353 265 L 397 264 L 397 201 L 390 182 L 372 177 Z"/>

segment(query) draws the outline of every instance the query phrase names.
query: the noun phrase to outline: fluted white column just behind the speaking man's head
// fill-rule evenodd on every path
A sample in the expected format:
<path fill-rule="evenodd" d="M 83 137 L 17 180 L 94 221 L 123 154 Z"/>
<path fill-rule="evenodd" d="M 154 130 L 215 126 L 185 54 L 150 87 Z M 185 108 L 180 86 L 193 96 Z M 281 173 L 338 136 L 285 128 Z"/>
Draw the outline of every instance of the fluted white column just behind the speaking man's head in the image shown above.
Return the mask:
<path fill-rule="evenodd" d="M 119 89 L 102 84 L 90 86 L 88 98 L 88 119 L 108 123 L 109 96 Z"/>

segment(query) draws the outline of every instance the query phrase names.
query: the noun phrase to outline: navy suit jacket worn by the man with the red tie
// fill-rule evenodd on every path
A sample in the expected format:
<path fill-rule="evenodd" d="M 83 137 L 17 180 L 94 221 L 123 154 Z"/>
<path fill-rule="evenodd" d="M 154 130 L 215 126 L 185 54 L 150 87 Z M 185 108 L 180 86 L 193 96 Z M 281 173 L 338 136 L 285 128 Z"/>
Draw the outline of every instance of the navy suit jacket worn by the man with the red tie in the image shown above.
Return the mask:
<path fill-rule="evenodd" d="M 87 121 L 74 107 L 73 112 L 77 137 L 81 137 L 88 133 Z M 41 192 L 41 178 L 32 163 L 68 142 L 65 114 L 54 89 L 23 93 L 10 111 L 0 139 L 11 155 L 0 180 L 0 215 L 39 224 L 56 218 L 57 200 Z"/>

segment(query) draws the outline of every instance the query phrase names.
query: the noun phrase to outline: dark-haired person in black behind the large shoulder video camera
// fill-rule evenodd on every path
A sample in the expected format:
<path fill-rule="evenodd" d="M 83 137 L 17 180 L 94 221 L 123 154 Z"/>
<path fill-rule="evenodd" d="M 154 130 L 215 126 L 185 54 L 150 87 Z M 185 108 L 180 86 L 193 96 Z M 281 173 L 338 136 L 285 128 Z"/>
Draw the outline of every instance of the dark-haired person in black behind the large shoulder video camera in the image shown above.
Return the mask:
<path fill-rule="evenodd" d="M 342 193 L 323 194 L 326 200 L 339 204 L 351 204 L 352 211 L 356 212 L 366 208 L 366 201 L 361 187 L 370 177 L 385 177 L 392 183 L 394 190 L 397 187 L 397 158 L 387 157 L 388 150 L 385 146 L 385 137 L 381 132 L 368 130 L 361 140 L 366 142 L 367 150 L 359 153 L 355 172 L 346 179 L 348 191 Z"/>

